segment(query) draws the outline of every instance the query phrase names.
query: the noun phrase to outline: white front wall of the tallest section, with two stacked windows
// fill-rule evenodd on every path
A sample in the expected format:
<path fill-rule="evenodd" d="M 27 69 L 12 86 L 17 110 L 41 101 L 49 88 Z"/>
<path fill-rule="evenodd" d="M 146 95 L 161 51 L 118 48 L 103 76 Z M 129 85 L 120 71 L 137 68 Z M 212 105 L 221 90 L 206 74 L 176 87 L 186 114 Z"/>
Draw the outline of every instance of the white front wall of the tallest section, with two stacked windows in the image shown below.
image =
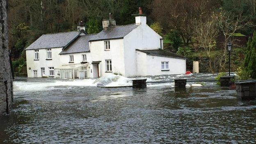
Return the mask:
<path fill-rule="evenodd" d="M 113 73 L 121 73 L 122 75 L 125 75 L 123 39 L 111 39 L 110 50 L 107 51 L 104 49 L 104 41 L 91 41 L 89 45 L 91 61 L 101 61 L 99 64 L 100 76 L 106 76 Z M 112 73 L 105 72 L 106 59 L 112 60 Z"/>

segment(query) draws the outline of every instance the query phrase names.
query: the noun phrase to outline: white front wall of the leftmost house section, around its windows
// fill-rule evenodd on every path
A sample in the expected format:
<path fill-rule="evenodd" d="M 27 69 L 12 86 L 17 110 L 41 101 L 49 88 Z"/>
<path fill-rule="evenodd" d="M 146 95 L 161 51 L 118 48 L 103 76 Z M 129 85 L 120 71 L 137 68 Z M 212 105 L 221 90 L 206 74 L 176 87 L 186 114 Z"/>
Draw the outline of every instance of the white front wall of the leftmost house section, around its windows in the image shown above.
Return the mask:
<path fill-rule="evenodd" d="M 46 49 L 39 49 L 39 60 L 34 60 L 34 50 L 26 50 L 27 77 L 34 77 L 33 70 L 37 70 L 37 77 L 42 77 L 41 68 L 45 68 L 46 76 L 49 76 L 48 67 L 58 67 L 60 65 L 59 53 L 62 48 L 51 48 L 52 60 L 46 60 Z M 31 68 L 29 70 L 29 68 Z"/>

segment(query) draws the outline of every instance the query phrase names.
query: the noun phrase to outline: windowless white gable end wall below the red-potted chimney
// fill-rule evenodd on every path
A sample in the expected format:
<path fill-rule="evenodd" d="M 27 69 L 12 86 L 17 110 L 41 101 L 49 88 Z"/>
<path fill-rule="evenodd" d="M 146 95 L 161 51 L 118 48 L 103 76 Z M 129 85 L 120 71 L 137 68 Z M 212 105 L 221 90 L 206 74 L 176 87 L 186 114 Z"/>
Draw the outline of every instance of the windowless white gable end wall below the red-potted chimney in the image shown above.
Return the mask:
<path fill-rule="evenodd" d="M 139 25 L 124 38 L 125 76 L 136 76 L 139 73 L 136 62 L 136 49 L 153 50 L 161 48 L 162 37 L 148 25 Z"/>

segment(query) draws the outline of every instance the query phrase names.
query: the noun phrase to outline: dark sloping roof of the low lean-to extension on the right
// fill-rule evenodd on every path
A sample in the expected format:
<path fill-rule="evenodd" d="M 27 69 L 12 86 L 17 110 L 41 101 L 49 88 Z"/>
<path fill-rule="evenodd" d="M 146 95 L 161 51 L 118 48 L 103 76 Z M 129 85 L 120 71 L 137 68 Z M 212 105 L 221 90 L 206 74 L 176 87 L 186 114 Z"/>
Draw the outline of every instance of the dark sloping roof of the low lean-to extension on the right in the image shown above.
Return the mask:
<path fill-rule="evenodd" d="M 164 56 L 164 57 L 173 57 L 173 58 L 179 58 L 179 59 L 187 59 L 186 57 L 183 57 L 181 55 L 177 55 L 176 53 L 171 53 L 167 50 L 157 49 L 157 50 L 139 50 L 140 52 L 146 53 L 147 55 L 155 55 L 155 56 Z"/>

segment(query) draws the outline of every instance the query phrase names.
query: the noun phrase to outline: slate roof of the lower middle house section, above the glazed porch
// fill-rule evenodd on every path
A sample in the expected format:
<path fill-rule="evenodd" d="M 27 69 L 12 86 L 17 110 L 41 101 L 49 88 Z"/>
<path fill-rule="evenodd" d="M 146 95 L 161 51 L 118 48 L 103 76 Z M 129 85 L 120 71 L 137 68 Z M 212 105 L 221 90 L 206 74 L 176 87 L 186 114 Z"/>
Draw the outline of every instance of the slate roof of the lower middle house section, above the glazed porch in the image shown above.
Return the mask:
<path fill-rule="evenodd" d="M 68 54 L 68 53 L 81 53 L 89 52 L 89 40 L 94 39 L 97 34 L 86 34 L 78 36 L 69 46 L 64 48 L 59 54 Z"/>

